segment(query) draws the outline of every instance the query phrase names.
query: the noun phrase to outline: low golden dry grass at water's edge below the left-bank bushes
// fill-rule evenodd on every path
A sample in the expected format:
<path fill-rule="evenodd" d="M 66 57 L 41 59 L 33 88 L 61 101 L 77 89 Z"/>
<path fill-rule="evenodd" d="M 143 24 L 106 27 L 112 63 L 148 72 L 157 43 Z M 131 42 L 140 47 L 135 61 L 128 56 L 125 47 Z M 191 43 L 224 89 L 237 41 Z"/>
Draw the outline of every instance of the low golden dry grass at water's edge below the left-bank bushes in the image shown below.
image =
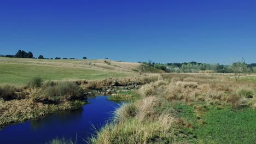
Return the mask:
<path fill-rule="evenodd" d="M 82 101 L 67 101 L 59 105 L 42 104 L 34 103 L 31 99 L 0 101 L 0 127 L 39 118 L 60 110 L 76 109 L 84 104 Z"/>

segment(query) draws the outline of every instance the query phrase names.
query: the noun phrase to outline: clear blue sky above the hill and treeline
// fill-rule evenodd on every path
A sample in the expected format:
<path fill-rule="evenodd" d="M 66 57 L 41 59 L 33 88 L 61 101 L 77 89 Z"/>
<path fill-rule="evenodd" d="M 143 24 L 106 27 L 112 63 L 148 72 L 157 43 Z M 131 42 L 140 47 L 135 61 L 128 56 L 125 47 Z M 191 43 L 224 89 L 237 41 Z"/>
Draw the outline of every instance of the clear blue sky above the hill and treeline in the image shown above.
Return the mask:
<path fill-rule="evenodd" d="M 1 1 L 0 54 L 256 62 L 256 1 Z"/>

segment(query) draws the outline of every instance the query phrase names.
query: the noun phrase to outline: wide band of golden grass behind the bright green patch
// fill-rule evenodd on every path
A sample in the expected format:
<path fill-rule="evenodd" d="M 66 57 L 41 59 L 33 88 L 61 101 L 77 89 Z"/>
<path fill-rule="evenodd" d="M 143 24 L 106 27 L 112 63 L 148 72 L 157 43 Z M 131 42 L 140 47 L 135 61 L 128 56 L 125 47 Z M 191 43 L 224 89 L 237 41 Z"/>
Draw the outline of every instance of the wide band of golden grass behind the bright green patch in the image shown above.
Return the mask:
<path fill-rule="evenodd" d="M 228 102 L 234 107 L 246 105 L 247 99 L 254 96 L 254 85 L 251 83 L 236 83 L 225 76 L 181 76 L 182 78 L 171 76 L 169 79 L 170 77 L 164 75 L 163 77 L 167 77 L 167 80 L 158 80 L 144 85 L 139 89 L 139 93 L 143 97 L 155 95 L 155 97 L 166 98 L 168 101 L 207 101 L 212 105 Z"/>

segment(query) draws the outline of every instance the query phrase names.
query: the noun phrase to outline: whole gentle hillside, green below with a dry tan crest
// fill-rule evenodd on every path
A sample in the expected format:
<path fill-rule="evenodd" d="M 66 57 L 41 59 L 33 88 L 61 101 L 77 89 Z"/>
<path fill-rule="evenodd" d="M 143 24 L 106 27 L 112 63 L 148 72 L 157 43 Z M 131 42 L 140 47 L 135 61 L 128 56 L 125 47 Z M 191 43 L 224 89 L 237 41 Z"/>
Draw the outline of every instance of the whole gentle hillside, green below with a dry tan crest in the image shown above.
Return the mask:
<path fill-rule="evenodd" d="M 32 77 L 46 80 L 105 79 L 132 74 L 137 63 L 103 60 L 50 60 L 26 58 L 0 58 L 0 83 L 24 84 Z M 134 71 L 133 71 L 134 73 Z"/>

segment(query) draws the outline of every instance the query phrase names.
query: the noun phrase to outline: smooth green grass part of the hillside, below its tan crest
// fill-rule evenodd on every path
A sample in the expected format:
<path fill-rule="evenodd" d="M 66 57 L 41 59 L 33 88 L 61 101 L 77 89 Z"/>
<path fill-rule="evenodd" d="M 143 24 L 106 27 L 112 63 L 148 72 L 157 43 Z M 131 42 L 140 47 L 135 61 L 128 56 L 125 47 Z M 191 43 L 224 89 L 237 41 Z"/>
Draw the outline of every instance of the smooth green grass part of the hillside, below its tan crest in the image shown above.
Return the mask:
<path fill-rule="evenodd" d="M 129 74 L 115 72 L 114 70 L 102 70 L 79 67 L 58 67 L 51 65 L 33 65 L 19 63 L 0 62 L 0 83 L 25 84 L 33 77 L 42 77 L 45 80 L 62 79 L 105 79 L 107 77 L 123 77 Z"/>

